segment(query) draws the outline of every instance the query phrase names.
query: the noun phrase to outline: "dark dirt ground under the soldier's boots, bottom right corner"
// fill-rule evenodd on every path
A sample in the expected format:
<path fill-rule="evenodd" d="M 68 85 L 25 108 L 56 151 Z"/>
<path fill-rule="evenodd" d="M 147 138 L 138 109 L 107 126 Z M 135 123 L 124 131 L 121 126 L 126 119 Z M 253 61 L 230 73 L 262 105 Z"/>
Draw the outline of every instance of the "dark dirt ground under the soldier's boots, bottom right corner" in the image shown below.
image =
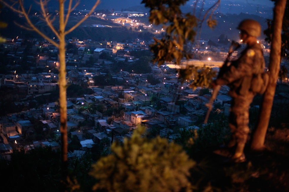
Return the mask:
<path fill-rule="evenodd" d="M 216 154 L 203 158 L 193 170 L 198 178 L 199 191 L 289 191 L 289 124 L 269 128 L 265 145 L 267 150 L 244 153 L 247 161 L 230 163 Z M 208 152 L 207 152 L 208 153 Z"/>

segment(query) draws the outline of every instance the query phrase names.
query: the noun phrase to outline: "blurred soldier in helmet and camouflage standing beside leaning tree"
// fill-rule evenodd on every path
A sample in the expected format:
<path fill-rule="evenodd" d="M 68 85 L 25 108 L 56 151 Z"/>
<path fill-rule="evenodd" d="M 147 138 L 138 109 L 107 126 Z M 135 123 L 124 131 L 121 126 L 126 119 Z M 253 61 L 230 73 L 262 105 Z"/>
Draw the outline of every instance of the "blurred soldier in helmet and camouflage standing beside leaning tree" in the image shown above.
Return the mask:
<path fill-rule="evenodd" d="M 235 147 L 231 156 L 233 162 L 245 161 L 244 147 L 249 133 L 249 108 L 253 101 L 255 92 L 250 89 L 252 78 L 256 74 L 264 73 L 265 61 L 262 48 L 257 43 L 257 37 L 261 35 L 260 24 L 252 19 L 243 20 L 238 28 L 241 41 L 247 44 L 239 58 L 231 62 L 231 65 L 220 70 L 216 85 L 228 85 L 229 95 L 232 97 L 229 127 L 232 132 L 228 148 Z"/>

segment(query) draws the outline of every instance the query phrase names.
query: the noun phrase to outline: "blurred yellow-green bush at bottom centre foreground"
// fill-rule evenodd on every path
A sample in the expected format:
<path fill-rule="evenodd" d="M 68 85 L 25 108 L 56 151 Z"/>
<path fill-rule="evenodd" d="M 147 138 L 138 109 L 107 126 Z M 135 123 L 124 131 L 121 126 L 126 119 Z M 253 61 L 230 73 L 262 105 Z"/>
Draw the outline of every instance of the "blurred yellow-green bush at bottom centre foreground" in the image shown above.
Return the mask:
<path fill-rule="evenodd" d="M 112 154 L 93 165 L 96 189 L 107 191 L 190 191 L 189 169 L 195 162 L 182 147 L 159 136 L 148 139 L 144 129 L 134 131 L 124 143 L 114 142 Z"/>

